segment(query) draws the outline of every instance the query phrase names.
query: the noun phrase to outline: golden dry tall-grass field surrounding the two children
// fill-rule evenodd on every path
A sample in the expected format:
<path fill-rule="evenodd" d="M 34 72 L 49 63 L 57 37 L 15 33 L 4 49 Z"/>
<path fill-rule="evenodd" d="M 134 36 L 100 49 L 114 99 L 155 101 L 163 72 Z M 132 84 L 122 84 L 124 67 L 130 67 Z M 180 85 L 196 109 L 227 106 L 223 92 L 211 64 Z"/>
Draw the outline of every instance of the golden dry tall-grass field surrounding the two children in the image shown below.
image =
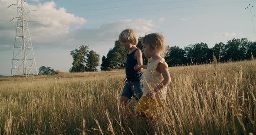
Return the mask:
<path fill-rule="evenodd" d="M 124 70 L 0 78 L 0 134 L 234 135 L 256 133 L 256 61 L 169 68 L 164 119 L 118 101 Z"/>

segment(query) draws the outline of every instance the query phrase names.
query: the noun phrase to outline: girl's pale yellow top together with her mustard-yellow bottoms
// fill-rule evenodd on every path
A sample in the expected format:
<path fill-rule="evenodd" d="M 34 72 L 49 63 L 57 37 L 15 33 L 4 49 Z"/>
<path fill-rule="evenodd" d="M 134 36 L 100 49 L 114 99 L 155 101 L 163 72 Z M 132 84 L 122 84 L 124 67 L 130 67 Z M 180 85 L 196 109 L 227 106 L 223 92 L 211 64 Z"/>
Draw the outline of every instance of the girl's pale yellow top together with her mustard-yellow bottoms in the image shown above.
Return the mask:
<path fill-rule="evenodd" d="M 158 116 L 158 107 L 163 108 L 163 101 L 166 100 L 167 87 L 162 88 L 157 93 L 154 94 L 152 99 L 146 97 L 148 92 L 156 87 L 158 84 L 161 84 L 161 81 L 164 79 L 162 74 L 157 71 L 158 64 L 163 64 L 168 69 L 168 64 L 165 62 L 164 58 L 159 58 L 156 61 L 152 61 L 152 58 L 148 60 L 148 67 L 146 73 L 144 74 L 143 81 L 143 95 L 139 100 L 135 111 L 139 113 L 144 113 L 148 117 Z M 154 93 L 154 92 L 153 92 Z"/>

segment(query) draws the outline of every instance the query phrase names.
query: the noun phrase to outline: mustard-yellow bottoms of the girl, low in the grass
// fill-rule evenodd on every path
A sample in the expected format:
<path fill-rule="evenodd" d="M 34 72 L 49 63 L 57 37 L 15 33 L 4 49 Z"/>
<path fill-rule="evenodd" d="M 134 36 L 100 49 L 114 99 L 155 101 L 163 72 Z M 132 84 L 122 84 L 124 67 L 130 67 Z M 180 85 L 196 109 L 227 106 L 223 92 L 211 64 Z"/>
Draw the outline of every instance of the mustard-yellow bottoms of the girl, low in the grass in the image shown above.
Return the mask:
<path fill-rule="evenodd" d="M 144 113 L 150 118 L 159 117 L 159 113 L 164 109 L 163 103 L 154 99 L 150 99 L 146 96 L 142 96 L 136 105 L 135 111 L 138 113 Z"/>

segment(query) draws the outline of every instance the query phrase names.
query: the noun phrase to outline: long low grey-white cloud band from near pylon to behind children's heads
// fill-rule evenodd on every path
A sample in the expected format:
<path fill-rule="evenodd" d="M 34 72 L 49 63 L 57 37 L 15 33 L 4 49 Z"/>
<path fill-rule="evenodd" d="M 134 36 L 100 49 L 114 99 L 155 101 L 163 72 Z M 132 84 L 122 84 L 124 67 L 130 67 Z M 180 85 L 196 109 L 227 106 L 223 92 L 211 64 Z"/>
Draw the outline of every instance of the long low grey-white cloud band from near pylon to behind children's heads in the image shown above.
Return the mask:
<path fill-rule="evenodd" d="M 118 39 L 119 34 L 124 29 L 133 29 L 137 36 L 144 36 L 147 32 L 153 32 L 154 24 L 152 20 L 134 19 L 119 20 L 116 22 L 104 23 L 95 29 L 70 29 L 68 32 L 53 33 L 53 29 L 34 29 L 31 33 L 32 40 L 44 44 L 44 46 L 62 46 L 73 48 L 73 45 L 104 45 L 109 49 L 114 41 Z M 96 51 L 96 50 L 95 50 Z"/>

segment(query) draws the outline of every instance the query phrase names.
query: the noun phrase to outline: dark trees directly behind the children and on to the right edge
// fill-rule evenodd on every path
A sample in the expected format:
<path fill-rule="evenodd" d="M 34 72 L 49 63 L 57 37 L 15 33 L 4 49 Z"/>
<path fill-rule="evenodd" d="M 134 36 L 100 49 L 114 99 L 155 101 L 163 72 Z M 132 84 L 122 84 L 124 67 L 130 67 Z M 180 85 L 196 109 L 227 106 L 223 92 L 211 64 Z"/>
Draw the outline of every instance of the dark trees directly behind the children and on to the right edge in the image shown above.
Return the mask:
<path fill-rule="evenodd" d="M 141 37 L 137 47 L 142 49 Z M 102 57 L 101 70 L 120 69 L 125 67 L 127 51 L 124 46 L 116 40 L 114 48 Z M 207 43 L 190 44 L 180 48 L 178 46 L 167 46 L 165 61 L 169 66 L 181 66 L 187 64 L 208 64 L 213 61 L 213 55 L 219 62 L 242 61 L 251 59 L 256 55 L 256 42 L 248 41 L 247 38 L 231 39 L 224 44 L 217 43 L 213 48 L 208 48 Z M 143 64 L 147 64 L 148 58 L 143 56 Z"/>

